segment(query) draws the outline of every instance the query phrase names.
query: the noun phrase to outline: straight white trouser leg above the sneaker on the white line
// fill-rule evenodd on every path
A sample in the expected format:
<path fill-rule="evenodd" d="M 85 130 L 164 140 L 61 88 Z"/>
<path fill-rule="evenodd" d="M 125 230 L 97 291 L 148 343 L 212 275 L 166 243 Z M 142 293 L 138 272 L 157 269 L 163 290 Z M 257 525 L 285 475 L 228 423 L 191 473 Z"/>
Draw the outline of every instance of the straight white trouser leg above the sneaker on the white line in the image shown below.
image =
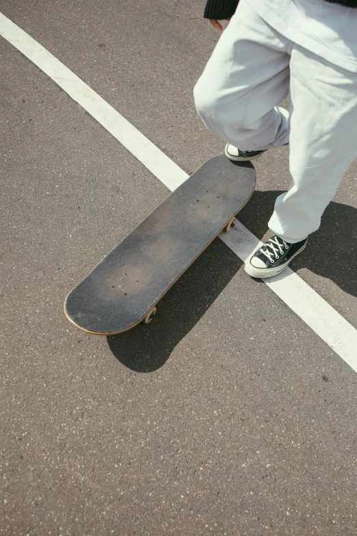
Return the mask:
<path fill-rule="evenodd" d="M 291 51 L 289 191 L 269 227 L 287 242 L 319 228 L 343 173 L 357 157 L 357 74 L 295 45 Z"/>

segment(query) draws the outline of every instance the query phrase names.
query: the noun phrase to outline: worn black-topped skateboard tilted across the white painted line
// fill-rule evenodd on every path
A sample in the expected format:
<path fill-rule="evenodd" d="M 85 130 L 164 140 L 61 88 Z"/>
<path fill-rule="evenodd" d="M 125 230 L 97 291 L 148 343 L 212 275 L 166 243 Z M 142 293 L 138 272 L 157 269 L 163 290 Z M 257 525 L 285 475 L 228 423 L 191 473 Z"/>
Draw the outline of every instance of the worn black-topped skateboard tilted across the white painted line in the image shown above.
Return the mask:
<path fill-rule="evenodd" d="M 153 320 L 162 296 L 221 231 L 232 229 L 254 186 L 251 162 L 209 159 L 68 294 L 68 320 L 96 335 Z"/>

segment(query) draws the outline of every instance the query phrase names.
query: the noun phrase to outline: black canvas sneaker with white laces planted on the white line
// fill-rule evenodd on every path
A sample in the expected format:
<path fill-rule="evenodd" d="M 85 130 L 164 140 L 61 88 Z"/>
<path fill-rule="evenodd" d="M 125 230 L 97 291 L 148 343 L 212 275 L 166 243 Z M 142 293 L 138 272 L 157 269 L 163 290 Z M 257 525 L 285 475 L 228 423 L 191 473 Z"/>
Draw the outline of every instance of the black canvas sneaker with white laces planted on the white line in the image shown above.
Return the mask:
<path fill-rule="evenodd" d="M 252 277 L 272 277 L 280 274 L 296 255 L 301 253 L 308 239 L 290 244 L 273 235 L 246 261 L 245 270 Z"/>

